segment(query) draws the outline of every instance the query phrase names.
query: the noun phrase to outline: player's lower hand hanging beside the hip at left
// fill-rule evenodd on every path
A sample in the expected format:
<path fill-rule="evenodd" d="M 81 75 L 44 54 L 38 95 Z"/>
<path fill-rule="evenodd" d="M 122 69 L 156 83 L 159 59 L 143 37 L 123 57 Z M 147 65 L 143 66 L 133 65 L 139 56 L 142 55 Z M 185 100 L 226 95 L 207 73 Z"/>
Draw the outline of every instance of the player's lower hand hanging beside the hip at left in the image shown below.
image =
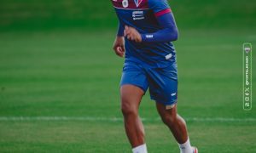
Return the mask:
<path fill-rule="evenodd" d="M 116 37 L 113 42 L 113 50 L 115 54 L 124 57 L 125 54 L 125 40 L 124 37 Z"/>

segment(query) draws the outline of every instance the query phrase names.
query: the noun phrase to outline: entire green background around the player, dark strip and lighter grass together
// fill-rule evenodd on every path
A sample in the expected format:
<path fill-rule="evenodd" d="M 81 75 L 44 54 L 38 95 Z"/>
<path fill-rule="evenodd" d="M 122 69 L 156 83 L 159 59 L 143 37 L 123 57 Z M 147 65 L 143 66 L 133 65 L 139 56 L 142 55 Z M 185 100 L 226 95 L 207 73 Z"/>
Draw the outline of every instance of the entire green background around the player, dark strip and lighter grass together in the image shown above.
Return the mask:
<path fill-rule="evenodd" d="M 242 44 L 256 42 L 256 1 L 169 3 L 190 141 L 202 152 L 255 152 L 256 111 L 242 109 Z M 108 0 L 0 0 L 0 152 L 131 151 L 117 25 Z M 178 152 L 148 94 L 140 116 L 149 152 Z"/>

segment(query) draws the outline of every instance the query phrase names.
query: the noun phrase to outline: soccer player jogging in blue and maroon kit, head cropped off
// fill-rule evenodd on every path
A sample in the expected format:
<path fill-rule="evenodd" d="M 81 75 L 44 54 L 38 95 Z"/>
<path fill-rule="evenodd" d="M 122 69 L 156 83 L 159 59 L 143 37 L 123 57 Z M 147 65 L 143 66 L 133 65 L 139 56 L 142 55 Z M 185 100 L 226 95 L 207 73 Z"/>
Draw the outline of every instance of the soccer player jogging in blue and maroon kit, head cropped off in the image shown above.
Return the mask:
<path fill-rule="evenodd" d="M 177 26 L 166 0 L 111 0 L 119 19 L 115 54 L 125 56 L 120 82 L 121 111 L 133 153 L 147 153 L 138 109 L 149 88 L 162 121 L 172 131 L 181 153 L 197 153 L 186 124 L 177 115 L 177 62 L 172 41 Z"/>

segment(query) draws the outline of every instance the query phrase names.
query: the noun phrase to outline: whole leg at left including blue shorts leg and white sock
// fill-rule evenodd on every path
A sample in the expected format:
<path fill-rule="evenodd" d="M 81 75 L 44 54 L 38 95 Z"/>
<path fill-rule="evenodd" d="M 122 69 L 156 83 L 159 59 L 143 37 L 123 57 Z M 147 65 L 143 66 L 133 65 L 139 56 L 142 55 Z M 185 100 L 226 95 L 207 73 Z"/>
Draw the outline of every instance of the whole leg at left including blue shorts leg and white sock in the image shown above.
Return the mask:
<path fill-rule="evenodd" d="M 148 80 L 143 66 L 131 61 L 125 62 L 120 87 L 125 132 L 131 143 L 132 151 L 147 153 L 143 122 L 138 115 L 141 99 L 148 89 Z"/>

